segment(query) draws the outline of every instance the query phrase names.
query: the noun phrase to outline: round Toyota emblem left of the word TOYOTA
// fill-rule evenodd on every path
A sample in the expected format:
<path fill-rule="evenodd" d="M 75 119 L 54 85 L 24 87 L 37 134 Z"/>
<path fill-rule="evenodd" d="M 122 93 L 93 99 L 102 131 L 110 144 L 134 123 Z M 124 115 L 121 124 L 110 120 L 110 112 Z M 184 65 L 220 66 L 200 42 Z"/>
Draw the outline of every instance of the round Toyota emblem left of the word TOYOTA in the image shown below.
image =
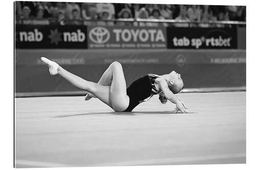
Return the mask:
<path fill-rule="evenodd" d="M 90 39 L 97 44 L 103 44 L 110 39 L 110 32 L 104 27 L 95 27 L 89 33 Z"/>

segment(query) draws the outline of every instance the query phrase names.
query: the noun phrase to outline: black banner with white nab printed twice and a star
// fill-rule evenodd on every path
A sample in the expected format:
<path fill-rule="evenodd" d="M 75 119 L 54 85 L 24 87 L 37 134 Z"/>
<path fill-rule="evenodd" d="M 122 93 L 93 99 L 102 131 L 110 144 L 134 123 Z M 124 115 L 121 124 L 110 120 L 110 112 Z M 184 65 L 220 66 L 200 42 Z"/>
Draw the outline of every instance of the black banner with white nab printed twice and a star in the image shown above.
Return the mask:
<path fill-rule="evenodd" d="M 16 25 L 16 48 L 87 48 L 87 26 Z"/>

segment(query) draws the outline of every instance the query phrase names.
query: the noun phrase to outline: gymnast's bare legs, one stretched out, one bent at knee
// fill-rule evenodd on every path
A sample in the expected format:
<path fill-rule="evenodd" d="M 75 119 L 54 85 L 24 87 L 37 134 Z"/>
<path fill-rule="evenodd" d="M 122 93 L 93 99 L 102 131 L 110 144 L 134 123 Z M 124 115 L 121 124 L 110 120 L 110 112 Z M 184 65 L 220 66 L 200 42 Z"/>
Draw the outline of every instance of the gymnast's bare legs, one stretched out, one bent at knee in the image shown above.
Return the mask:
<path fill-rule="evenodd" d="M 129 96 L 126 95 L 126 83 L 120 63 L 113 62 L 102 75 L 99 81 L 101 84 L 112 81 L 111 86 L 106 86 L 84 80 L 45 57 L 42 57 L 41 60 L 48 65 L 51 75 L 59 74 L 75 87 L 93 93 L 99 100 L 115 111 L 124 111 L 128 107 Z"/>

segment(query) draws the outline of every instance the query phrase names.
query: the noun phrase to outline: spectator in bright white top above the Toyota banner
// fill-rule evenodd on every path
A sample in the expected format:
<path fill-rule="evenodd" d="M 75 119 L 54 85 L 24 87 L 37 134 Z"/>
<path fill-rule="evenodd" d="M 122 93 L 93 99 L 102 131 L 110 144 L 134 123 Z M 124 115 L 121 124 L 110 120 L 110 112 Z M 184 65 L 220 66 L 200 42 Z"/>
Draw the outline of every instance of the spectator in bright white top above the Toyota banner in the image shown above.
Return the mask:
<path fill-rule="evenodd" d="M 97 13 L 100 18 L 104 18 L 103 13 L 108 13 L 108 19 L 115 18 L 115 7 L 113 4 L 110 3 L 97 3 L 96 4 Z M 106 15 L 106 14 L 104 14 Z"/>

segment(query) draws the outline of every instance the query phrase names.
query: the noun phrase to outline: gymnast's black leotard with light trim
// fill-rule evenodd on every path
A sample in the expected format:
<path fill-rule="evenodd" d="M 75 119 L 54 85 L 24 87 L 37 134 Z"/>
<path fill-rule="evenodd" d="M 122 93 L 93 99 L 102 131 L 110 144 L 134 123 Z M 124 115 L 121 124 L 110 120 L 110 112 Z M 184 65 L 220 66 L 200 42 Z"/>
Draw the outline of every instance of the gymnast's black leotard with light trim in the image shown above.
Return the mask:
<path fill-rule="evenodd" d="M 130 98 L 129 106 L 124 112 L 131 112 L 141 102 L 148 101 L 153 95 L 160 93 L 155 87 L 158 75 L 148 74 L 134 81 L 126 90 Z"/>

